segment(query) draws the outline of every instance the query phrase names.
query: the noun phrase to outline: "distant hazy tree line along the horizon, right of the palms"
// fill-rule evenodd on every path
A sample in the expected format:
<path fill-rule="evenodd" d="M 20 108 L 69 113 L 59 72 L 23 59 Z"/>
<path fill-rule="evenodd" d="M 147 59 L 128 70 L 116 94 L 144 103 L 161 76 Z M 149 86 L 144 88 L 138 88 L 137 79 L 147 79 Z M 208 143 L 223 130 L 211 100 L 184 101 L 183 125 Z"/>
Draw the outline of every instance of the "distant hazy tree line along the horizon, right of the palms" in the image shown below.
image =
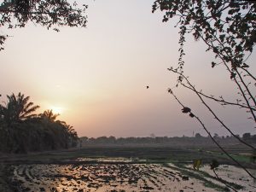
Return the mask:
<path fill-rule="evenodd" d="M 236 136 L 240 137 L 240 136 Z M 224 145 L 236 145 L 239 144 L 236 137 L 233 136 L 218 136 L 214 134 L 214 139 L 218 143 Z M 80 137 L 81 147 L 92 146 L 92 145 L 120 145 L 120 146 L 195 146 L 202 145 L 204 147 L 212 146 L 214 143 L 210 137 L 203 137 L 200 133 L 195 133 L 195 137 Z M 244 133 L 241 139 L 247 143 L 256 143 L 256 135 L 250 133 Z"/>

